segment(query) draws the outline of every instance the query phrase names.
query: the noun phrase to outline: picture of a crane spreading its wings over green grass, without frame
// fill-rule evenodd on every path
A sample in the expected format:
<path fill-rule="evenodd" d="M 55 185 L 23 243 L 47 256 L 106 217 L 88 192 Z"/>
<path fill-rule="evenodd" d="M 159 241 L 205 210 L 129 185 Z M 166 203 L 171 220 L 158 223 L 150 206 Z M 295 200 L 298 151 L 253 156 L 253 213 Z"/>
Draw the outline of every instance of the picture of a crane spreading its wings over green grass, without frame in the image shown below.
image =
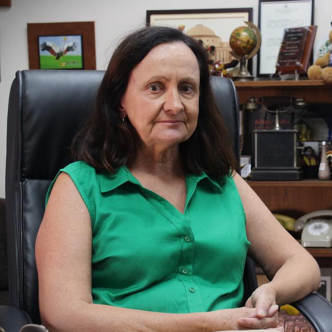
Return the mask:
<path fill-rule="evenodd" d="M 82 35 L 38 36 L 40 69 L 83 69 Z"/>

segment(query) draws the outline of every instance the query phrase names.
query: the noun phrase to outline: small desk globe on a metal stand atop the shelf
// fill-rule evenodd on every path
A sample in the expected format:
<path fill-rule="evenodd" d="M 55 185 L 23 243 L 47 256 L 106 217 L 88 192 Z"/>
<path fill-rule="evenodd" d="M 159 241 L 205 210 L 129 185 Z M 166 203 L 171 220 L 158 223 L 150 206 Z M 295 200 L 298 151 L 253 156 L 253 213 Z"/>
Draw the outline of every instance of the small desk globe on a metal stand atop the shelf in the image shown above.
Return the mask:
<path fill-rule="evenodd" d="M 245 23 L 248 27 L 234 29 L 229 37 L 230 48 L 233 50 L 229 53 L 240 60 L 240 70 L 238 74 L 233 75 L 234 81 L 254 79 L 246 68 L 246 62 L 258 52 L 262 42 L 259 29 L 252 22 L 245 21 Z"/>

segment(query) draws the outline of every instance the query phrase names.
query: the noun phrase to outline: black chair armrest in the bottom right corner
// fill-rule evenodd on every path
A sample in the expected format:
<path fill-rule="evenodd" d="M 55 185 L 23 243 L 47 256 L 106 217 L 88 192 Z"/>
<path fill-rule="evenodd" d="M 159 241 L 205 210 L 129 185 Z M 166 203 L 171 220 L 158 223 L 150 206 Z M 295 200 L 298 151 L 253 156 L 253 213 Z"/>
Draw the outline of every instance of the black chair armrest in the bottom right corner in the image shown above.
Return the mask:
<path fill-rule="evenodd" d="M 313 325 L 316 332 L 332 332 L 332 303 L 311 293 L 291 303 Z"/>

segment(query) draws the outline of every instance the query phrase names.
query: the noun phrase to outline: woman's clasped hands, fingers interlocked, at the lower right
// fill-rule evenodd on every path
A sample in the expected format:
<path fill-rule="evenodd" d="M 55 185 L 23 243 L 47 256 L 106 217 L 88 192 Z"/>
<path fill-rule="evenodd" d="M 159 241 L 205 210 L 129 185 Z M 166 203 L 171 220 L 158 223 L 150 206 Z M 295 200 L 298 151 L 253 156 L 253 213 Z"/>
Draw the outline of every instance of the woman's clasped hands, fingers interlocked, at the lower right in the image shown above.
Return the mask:
<path fill-rule="evenodd" d="M 240 326 L 259 329 L 278 325 L 278 305 L 275 301 L 275 291 L 269 284 L 258 287 L 247 300 L 246 307 L 253 312 L 238 320 Z"/>

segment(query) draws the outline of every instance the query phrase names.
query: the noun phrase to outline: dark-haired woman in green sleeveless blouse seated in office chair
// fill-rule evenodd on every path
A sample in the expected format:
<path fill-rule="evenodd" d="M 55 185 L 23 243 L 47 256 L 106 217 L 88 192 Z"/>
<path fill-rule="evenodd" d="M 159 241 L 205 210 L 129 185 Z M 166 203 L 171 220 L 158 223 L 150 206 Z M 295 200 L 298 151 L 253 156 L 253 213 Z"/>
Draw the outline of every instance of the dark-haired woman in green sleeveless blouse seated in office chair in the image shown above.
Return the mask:
<path fill-rule="evenodd" d="M 235 173 L 230 146 L 198 43 L 162 27 L 127 36 L 76 137 L 80 161 L 48 193 L 36 241 L 43 323 L 276 327 L 276 304 L 315 290 L 319 269 Z M 271 282 L 239 308 L 248 248 Z"/>

